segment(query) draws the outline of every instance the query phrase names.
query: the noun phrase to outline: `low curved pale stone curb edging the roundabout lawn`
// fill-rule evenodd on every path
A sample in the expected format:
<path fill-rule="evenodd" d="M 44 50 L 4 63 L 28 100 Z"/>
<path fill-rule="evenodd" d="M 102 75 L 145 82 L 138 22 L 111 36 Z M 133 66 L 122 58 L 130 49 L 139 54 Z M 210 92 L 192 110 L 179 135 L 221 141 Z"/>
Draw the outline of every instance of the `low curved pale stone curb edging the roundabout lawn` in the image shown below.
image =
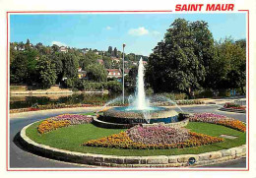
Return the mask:
<path fill-rule="evenodd" d="M 36 122 L 33 122 L 32 124 L 34 123 Z M 200 154 L 181 154 L 169 156 L 117 156 L 75 152 L 59 148 L 51 148 L 49 146 L 40 145 L 33 142 L 29 137 L 26 136 L 26 130 L 32 124 L 24 127 L 21 130 L 20 137 L 23 146 L 31 150 L 33 153 L 73 163 L 107 167 L 195 167 L 220 163 L 246 156 L 246 145 Z M 191 159 L 193 160 L 192 163 Z"/>

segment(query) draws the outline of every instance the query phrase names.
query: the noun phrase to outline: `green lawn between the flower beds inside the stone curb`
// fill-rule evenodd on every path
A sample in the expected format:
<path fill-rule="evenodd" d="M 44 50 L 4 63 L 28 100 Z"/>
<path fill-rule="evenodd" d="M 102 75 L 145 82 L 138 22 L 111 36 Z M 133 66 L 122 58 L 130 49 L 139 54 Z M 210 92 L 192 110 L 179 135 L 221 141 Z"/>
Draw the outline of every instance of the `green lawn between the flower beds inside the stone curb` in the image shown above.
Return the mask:
<path fill-rule="evenodd" d="M 112 134 L 117 134 L 124 129 L 103 129 L 93 124 L 84 124 L 61 128 L 50 133 L 40 135 L 36 128 L 40 122 L 34 123 L 27 129 L 27 136 L 34 142 L 50 146 L 52 148 L 62 148 L 79 152 L 91 152 L 99 154 L 115 155 L 176 155 L 187 153 L 201 153 L 215 151 L 225 148 L 233 148 L 245 144 L 246 134 L 226 128 L 224 126 L 190 122 L 187 128 L 193 132 L 210 136 L 220 136 L 222 134 L 237 136 L 234 140 L 225 139 L 223 143 L 202 146 L 197 148 L 171 148 L 171 149 L 118 149 L 118 148 L 94 148 L 84 147 L 83 143 L 95 140 Z"/>

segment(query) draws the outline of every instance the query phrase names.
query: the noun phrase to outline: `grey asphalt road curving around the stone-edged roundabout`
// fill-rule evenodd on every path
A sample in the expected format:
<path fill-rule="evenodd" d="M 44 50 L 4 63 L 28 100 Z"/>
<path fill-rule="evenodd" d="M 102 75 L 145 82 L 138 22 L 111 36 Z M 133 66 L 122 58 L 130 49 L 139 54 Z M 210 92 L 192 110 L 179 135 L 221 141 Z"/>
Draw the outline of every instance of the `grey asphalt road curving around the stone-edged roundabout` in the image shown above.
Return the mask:
<path fill-rule="evenodd" d="M 223 114 L 229 117 L 233 117 L 240 121 L 246 122 L 246 114 L 243 113 L 230 113 L 217 110 L 220 108 L 218 105 L 204 105 L 204 106 L 184 106 L 181 109 L 184 112 L 213 112 L 218 114 Z M 63 113 L 84 113 L 95 111 L 96 108 L 73 108 L 73 109 L 59 109 L 54 111 L 37 111 L 30 113 L 20 113 L 12 114 L 10 116 L 10 157 L 9 164 L 10 168 L 85 168 L 85 167 L 94 167 L 90 165 L 81 165 L 68 163 L 63 161 L 57 161 L 53 159 L 48 159 L 41 157 L 31 152 L 28 152 L 24 148 L 20 147 L 19 142 L 17 142 L 17 136 L 23 127 L 31 124 L 32 122 L 52 117 L 55 115 Z M 178 111 L 178 108 L 175 108 Z M 229 161 L 227 163 L 220 163 L 215 165 L 209 165 L 204 167 L 245 167 L 246 159 L 242 158 L 239 160 Z"/>

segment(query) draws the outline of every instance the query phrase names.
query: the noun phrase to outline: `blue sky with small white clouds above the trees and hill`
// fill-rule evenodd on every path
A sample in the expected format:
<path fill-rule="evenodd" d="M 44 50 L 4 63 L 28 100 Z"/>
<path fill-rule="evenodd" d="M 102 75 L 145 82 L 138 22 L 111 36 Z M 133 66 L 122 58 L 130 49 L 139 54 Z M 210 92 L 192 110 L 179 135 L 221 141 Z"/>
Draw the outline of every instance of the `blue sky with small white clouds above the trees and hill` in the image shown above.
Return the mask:
<path fill-rule="evenodd" d="M 10 15 L 11 42 L 65 45 L 107 50 L 108 46 L 126 53 L 150 55 L 177 18 L 205 21 L 214 39 L 231 36 L 246 38 L 246 16 L 229 14 L 47 14 Z"/>

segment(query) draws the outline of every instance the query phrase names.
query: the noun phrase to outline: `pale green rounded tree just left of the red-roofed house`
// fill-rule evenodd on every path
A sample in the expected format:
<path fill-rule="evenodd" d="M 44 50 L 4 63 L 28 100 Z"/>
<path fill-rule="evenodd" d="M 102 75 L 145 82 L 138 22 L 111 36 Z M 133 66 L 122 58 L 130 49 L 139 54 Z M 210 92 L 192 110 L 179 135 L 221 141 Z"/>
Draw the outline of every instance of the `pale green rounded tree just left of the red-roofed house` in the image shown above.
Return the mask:
<path fill-rule="evenodd" d="M 100 64 L 91 64 L 86 69 L 89 80 L 95 82 L 106 82 L 107 72 Z"/>

